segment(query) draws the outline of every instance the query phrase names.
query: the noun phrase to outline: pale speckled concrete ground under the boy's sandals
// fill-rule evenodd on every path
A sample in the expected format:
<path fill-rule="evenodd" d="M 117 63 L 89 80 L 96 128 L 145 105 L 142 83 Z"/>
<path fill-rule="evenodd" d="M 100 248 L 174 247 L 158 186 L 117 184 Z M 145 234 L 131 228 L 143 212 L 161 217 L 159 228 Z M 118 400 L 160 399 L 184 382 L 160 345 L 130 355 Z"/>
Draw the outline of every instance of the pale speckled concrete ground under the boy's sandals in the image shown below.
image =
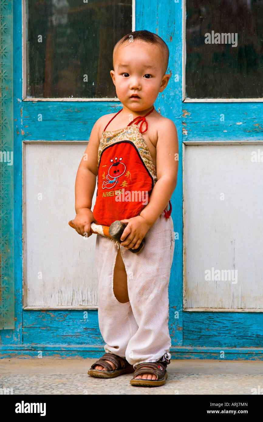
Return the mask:
<path fill-rule="evenodd" d="M 263 362 L 171 360 L 162 387 L 133 387 L 132 374 L 112 379 L 87 375 L 96 359 L 0 359 L 0 388 L 14 395 L 252 395 L 263 394 Z"/>

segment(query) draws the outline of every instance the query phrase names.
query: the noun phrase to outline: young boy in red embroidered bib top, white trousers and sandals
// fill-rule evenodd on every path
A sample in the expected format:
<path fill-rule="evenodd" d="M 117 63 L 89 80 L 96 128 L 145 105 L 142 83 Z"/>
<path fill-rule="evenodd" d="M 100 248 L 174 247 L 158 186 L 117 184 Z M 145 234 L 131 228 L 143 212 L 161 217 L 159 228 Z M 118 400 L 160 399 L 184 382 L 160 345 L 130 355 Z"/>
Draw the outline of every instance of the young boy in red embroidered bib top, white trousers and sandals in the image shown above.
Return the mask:
<path fill-rule="evenodd" d="M 152 32 L 134 31 L 118 41 L 111 77 L 123 108 L 94 124 L 87 160 L 82 158 L 76 175 L 74 225 L 80 235 L 92 234 L 91 222 L 127 224 L 120 244 L 97 235 L 98 319 L 106 353 L 88 374 L 111 378 L 135 370 L 130 383 L 138 386 L 163 385 L 171 358 L 170 198 L 177 182 L 178 139 L 174 123 L 153 106 L 171 76 L 165 74 L 168 58 L 166 43 Z M 144 249 L 131 253 L 143 238 Z"/>

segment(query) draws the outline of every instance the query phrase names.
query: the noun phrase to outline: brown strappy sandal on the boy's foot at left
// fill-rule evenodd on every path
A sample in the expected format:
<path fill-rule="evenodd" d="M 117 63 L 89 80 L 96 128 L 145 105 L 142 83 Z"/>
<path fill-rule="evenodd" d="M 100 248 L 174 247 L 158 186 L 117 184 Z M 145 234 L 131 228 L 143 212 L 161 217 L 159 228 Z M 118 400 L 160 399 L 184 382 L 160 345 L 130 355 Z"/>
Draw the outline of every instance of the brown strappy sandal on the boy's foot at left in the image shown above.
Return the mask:
<path fill-rule="evenodd" d="M 116 369 L 112 369 L 112 366 L 108 362 L 105 362 L 106 360 L 114 363 Z M 106 371 L 103 371 L 102 369 L 94 369 L 96 365 L 103 366 L 103 368 L 106 368 Z M 113 353 L 104 353 L 97 362 L 91 365 L 88 374 L 97 378 L 114 378 L 115 376 L 132 373 L 133 371 L 133 365 L 130 365 L 124 357 L 117 356 L 117 354 Z"/>

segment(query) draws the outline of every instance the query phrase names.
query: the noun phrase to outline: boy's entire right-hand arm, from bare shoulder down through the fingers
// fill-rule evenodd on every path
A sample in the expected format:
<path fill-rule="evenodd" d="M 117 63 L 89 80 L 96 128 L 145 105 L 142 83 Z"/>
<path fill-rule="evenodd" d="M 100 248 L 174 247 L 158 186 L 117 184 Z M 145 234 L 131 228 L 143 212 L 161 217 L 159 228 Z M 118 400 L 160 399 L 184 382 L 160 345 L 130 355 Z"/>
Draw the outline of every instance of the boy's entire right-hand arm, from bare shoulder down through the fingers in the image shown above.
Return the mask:
<path fill-rule="evenodd" d="M 162 214 L 174 192 L 178 172 L 178 137 L 174 122 L 167 119 L 158 130 L 156 146 L 157 182 L 152 189 L 149 203 L 141 213 L 127 220 L 121 236 L 121 245 L 127 249 L 137 249 L 149 228 Z"/>

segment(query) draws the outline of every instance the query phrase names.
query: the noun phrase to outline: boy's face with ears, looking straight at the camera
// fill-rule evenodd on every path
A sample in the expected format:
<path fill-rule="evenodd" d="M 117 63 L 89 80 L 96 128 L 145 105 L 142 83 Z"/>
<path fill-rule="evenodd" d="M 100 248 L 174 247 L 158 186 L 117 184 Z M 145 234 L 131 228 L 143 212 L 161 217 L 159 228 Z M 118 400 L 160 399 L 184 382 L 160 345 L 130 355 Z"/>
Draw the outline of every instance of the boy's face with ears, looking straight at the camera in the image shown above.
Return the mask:
<path fill-rule="evenodd" d="M 130 110 L 142 111 L 151 107 L 167 86 L 171 75 L 163 73 L 161 47 L 136 40 L 119 47 L 111 77 L 121 103 Z"/>

